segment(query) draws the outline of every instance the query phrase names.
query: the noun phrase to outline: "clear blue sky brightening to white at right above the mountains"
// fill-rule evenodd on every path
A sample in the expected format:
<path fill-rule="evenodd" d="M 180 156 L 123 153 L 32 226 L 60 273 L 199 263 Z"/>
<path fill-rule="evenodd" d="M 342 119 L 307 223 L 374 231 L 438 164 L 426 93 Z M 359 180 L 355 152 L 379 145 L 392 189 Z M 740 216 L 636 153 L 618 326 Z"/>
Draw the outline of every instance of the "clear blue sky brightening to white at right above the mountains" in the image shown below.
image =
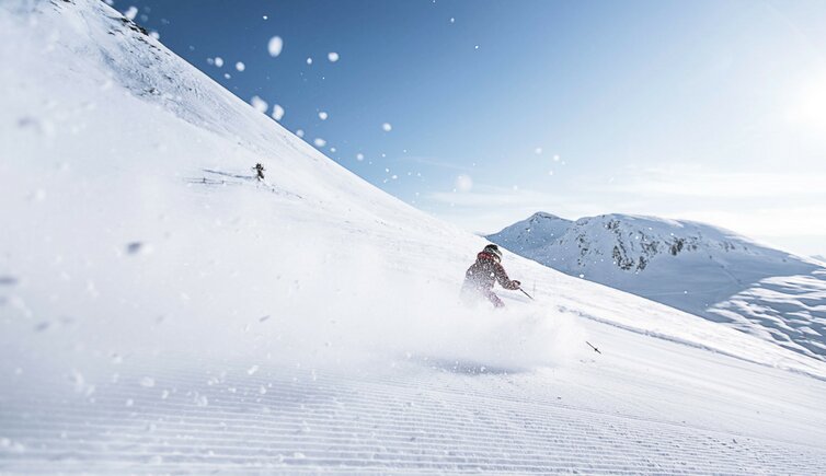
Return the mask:
<path fill-rule="evenodd" d="M 114 3 L 133 5 L 238 96 L 470 231 L 624 212 L 826 254 L 824 1 Z"/>

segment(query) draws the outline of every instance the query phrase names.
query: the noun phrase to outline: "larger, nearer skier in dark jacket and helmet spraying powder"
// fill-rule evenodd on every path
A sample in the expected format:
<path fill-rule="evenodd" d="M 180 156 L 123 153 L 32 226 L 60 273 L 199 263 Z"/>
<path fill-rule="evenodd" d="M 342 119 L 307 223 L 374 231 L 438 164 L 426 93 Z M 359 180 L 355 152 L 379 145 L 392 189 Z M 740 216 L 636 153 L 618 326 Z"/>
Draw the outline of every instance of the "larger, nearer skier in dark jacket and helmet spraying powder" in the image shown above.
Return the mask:
<path fill-rule="evenodd" d="M 477 263 L 464 272 L 461 297 L 466 303 L 486 299 L 494 307 L 504 307 L 505 303 L 493 292 L 493 285 L 500 281 L 503 288 L 516 290 L 521 283 L 507 277 L 501 262 L 502 252 L 496 245 L 487 245 L 477 255 Z"/>

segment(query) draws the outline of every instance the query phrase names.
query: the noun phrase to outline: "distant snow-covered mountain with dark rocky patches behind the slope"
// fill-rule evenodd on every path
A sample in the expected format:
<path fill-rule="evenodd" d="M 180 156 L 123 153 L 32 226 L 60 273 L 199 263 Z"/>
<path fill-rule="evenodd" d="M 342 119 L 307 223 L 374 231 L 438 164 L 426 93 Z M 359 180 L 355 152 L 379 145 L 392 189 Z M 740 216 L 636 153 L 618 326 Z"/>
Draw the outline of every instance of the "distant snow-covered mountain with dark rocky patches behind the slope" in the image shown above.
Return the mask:
<path fill-rule="evenodd" d="M 826 359 L 826 267 L 703 223 L 549 213 L 487 236 L 514 253 L 817 359 Z"/>

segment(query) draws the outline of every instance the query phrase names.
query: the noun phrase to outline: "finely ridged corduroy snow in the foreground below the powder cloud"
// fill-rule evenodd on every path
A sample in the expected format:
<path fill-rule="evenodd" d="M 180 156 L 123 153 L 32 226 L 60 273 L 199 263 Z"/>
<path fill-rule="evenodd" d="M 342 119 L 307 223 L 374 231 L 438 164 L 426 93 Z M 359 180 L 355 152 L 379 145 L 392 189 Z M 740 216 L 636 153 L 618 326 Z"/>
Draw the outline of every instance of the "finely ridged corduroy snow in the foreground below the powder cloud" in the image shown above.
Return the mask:
<path fill-rule="evenodd" d="M 553 385 L 526 395 L 520 374 L 404 367 L 406 378 L 123 365 L 69 375 L 58 386 L 74 386 L 74 398 L 21 375 L 0 402 L 0 469 L 815 474 L 826 461 L 815 441 L 611 415 Z"/>

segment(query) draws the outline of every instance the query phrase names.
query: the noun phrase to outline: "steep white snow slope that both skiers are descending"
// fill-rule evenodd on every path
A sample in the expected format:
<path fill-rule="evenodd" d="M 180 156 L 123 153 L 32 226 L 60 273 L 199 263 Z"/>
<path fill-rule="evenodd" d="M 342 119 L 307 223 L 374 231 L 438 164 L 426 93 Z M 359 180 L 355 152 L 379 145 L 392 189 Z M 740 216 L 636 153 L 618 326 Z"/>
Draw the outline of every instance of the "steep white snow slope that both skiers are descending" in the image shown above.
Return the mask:
<path fill-rule="evenodd" d="M 483 241 L 104 3 L 7 1 L 0 32 L 0 472 L 826 463 L 823 362 L 510 254 L 537 302 L 460 307 Z"/>

